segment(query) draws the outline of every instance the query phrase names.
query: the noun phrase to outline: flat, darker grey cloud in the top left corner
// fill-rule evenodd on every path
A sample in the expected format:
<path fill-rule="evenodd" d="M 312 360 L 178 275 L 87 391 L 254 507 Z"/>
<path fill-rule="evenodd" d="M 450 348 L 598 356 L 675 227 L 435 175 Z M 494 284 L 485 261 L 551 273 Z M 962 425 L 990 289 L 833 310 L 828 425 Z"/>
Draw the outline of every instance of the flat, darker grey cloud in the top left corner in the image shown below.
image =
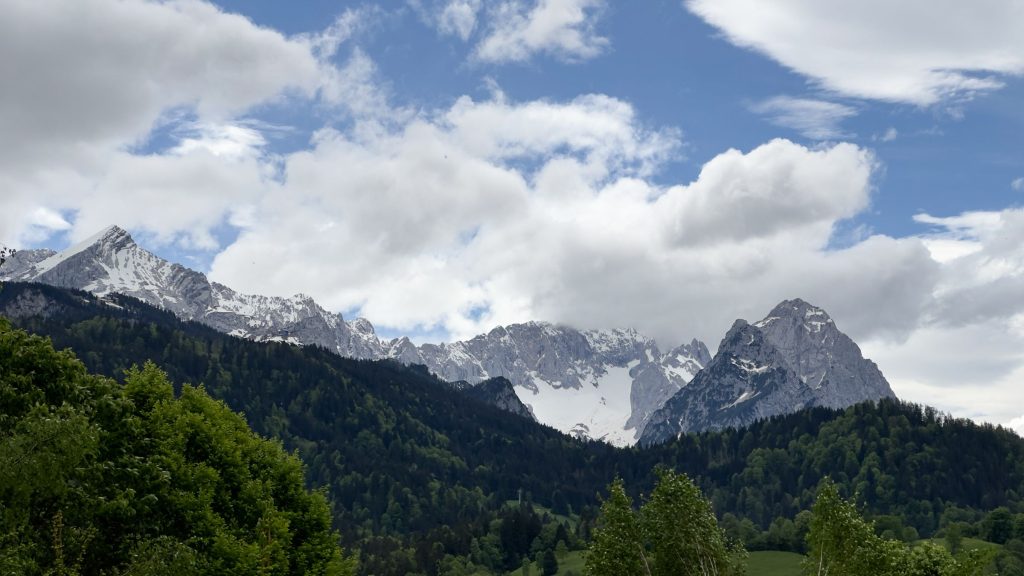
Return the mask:
<path fill-rule="evenodd" d="M 230 117 L 318 72 L 304 43 L 205 2 L 14 0 L 0 76 L 6 167 L 143 138 L 175 107 Z"/>

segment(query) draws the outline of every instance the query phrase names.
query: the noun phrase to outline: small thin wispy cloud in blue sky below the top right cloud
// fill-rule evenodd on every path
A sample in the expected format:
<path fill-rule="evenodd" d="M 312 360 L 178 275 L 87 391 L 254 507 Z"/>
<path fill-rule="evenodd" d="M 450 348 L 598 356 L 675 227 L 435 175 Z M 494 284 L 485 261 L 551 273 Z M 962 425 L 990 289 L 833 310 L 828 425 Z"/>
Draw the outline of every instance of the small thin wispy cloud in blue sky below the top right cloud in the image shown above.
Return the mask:
<path fill-rule="evenodd" d="M 766 116 L 776 126 L 790 128 L 815 140 L 844 137 L 841 124 L 857 110 L 826 100 L 774 96 L 755 104 L 751 111 Z"/>

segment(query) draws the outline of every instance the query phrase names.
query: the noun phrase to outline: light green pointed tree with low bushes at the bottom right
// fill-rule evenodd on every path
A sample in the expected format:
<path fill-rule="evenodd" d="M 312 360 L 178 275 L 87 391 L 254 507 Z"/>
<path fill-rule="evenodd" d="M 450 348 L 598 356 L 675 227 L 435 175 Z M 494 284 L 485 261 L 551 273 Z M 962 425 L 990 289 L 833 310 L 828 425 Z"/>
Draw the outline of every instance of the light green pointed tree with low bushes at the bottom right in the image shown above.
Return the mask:
<path fill-rule="evenodd" d="M 807 540 L 809 576 L 974 576 L 992 560 L 977 550 L 954 557 L 929 542 L 910 547 L 882 538 L 828 479 L 818 490 Z"/>

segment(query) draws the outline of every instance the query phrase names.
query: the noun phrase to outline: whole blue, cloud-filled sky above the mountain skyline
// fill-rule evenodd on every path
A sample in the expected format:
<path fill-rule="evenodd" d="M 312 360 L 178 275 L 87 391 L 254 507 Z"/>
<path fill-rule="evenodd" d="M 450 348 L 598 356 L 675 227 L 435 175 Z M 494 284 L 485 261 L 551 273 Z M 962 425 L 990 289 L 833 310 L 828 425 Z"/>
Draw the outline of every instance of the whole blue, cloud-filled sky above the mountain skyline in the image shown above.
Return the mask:
<path fill-rule="evenodd" d="M 119 224 L 419 341 L 802 297 L 1024 430 L 1019 0 L 0 7 L 0 244 Z"/>

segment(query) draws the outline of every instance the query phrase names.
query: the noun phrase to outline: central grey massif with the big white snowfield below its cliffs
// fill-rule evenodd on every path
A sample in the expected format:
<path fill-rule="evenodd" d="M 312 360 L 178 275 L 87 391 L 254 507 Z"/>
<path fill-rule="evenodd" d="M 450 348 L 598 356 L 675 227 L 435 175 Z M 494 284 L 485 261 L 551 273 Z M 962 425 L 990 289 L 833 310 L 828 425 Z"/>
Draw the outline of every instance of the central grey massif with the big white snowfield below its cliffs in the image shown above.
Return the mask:
<path fill-rule="evenodd" d="M 663 354 L 636 330 L 585 330 L 528 322 L 470 340 L 389 344 L 391 358 L 423 364 L 445 380 L 503 376 L 534 416 L 578 438 L 636 442 L 650 414 L 711 360 L 693 340 Z"/>

